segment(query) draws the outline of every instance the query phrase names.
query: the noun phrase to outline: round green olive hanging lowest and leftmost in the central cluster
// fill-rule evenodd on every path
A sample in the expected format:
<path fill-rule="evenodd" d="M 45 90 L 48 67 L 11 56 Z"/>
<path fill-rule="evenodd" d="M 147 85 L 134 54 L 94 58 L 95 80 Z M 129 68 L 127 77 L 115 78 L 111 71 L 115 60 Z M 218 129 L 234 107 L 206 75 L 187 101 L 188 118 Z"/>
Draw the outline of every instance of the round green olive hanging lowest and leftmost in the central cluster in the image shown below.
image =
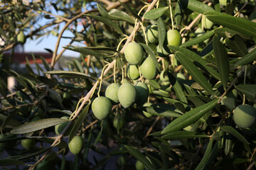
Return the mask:
<path fill-rule="evenodd" d="M 112 108 L 110 100 L 106 97 L 100 96 L 92 101 L 92 112 L 95 117 L 102 120 L 107 117 Z"/>

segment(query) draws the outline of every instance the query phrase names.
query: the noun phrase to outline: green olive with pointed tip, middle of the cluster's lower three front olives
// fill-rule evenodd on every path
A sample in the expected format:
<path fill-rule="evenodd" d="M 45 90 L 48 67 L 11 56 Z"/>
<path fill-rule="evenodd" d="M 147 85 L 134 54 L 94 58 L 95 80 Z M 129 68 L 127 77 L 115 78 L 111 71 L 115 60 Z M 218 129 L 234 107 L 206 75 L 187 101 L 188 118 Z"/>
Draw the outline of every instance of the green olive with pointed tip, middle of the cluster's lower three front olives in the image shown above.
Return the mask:
<path fill-rule="evenodd" d="M 136 89 L 132 84 L 122 84 L 118 89 L 119 102 L 124 108 L 132 106 L 136 99 Z"/>

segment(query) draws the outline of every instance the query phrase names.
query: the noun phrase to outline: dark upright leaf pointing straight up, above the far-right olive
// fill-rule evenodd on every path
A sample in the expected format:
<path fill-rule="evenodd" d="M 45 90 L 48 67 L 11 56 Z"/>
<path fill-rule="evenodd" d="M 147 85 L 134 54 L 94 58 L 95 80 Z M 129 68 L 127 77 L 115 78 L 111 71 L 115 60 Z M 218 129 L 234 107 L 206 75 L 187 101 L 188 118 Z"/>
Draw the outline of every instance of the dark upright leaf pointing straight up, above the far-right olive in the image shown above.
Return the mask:
<path fill-rule="evenodd" d="M 213 38 L 213 51 L 218 71 L 220 73 L 220 80 L 223 84 L 224 89 L 226 90 L 228 85 L 228 77 L 230 73 L 228 52 L 225 50 L 224 45 L 220 42 L 216 35 Z"/>

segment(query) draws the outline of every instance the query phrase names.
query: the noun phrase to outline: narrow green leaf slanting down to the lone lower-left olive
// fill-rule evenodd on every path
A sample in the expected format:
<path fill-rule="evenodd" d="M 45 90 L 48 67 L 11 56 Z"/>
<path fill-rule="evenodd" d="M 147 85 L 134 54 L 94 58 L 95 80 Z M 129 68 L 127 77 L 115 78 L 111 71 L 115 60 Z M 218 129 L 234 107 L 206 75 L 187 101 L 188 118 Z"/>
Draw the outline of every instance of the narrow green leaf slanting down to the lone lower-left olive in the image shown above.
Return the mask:
<path fill-rule="evenodd" d="M 70 132 L 70 135 L 68 137 L 68 142 L 70 142 L 73 139 L 73 137 L 75 137 L 75 135 L 77 134 L 79 128 L 81 127 L 82 123 L 84 122 L 84 120 L 86 118 L 86 115 L 89 110 L 89 106 L 90 106 L 90 104 L 87 104 L 87 106 L 85 106 L 85 108 L 80 113 L 78 120 L 75 121 L 75 125 L 73 126 L 73 128 Z"/>

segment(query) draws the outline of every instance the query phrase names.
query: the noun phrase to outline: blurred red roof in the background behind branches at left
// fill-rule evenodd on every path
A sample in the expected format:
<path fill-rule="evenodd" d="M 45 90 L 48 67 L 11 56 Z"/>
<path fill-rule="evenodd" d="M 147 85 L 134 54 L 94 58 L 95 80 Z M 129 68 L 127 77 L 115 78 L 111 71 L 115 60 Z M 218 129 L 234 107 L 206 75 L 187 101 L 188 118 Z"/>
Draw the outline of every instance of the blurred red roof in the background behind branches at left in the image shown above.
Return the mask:
<path fill-rule="evenodd" d="M 36 63 L 41 64 L 43 63 L 41 57 L 43 57 L 46 62 L 48 62 L 50 64 L 53 55 L 48 53 L 48 52 L 21 52 L 21 53 L 14 53 L 13 56 L 13 62 L 19 63 L 19 64 L 26 64 L 26 57 L 28 58 L 28 61 L 30 64 L 34 64 L 34 60 L 33 57 L 31 55 L 31 53 L 33 53 L 33 55 L 36 58 Z M 5 55 L 9 55 L 9 54 L 5 54 Z"/>

